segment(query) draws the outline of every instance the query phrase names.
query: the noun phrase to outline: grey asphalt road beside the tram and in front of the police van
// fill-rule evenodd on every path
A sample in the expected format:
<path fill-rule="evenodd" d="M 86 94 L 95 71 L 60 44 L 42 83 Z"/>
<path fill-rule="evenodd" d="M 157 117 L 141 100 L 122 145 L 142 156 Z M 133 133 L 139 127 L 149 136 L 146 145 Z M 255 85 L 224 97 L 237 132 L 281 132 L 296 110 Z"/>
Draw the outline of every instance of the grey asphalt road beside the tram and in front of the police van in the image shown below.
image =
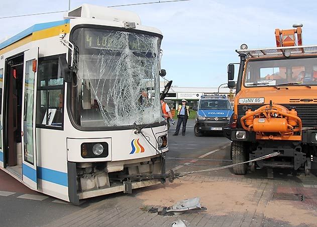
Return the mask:
<path fill-rule="evenodd" d="M 189 120 L 186 127 L 186 134 L 172 136 L 175 126 L 169 130 L 169 152 L 167 154 L 166 169 L 174 169 L 179 173 L 210 169 L 213 167 L 230 165 L 230 141 L 220 135 L 194 136 L 194 121 Z M 224 169 L 213 172 L 201 172 L 200 176 L 235 177 L 232 169 Z M 303 174 L 301 174 L 302 176 Z M 266 178 L 265 170 L 258 170 L 256 173 L 248 174 L 248 178 Z M 308 178 L 294 179 L 289 171 L 276 171 L 274 177 L 283 178 L 286 181 L 298 181 L 305 179 L 306 184 L 316 182 L 315 174 Z M 6 192 L 12 192 L 8 195 Z M 29 195 L 28 198 L 23 198 Z M 40 199 L 36 200 L 35 198 Z M 36 197 L 38 196 L 38 197 Z M 44 196 L 44 197 L 41 197 Z M 79 206 L 63 203 L 53 197 L 45 197 L 36 193 L 4 172 L 0 171 L 0 226 L 42 226 L 63 216 L 72 214 L 84 209 L 101 200 L 118 197 L 125 199 L 126 195 L 117 193 L 114 195 L 100 196 L 85 200 Z"/>

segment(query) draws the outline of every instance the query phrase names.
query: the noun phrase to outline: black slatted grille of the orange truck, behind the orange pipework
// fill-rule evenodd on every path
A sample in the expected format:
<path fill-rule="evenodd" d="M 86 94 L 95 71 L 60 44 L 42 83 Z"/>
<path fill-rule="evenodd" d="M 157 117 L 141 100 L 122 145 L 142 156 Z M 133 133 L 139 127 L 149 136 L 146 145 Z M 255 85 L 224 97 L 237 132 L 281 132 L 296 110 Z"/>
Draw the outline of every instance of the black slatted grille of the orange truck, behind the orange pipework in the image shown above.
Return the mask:
<path fill-rule="evenodd" d="M 263 106 L 265 104 L 255 104 L 255 105 L 248 105 L 252 108 L 252 110 L 256 110 L 259 107 Z M 300 117 L 301 122 L 304 126 L 313 126 L 317 125 L 317 105 L 316 104 L 280 104 L 282 106 L 285 106 L 287 109 L 291 109 L 292 107 L 295 107 L 297 111 L 298 117 Z M 245 112 L 248 108 L 246 105 L 238 105 L 238 116 L 245 115 Z"/>

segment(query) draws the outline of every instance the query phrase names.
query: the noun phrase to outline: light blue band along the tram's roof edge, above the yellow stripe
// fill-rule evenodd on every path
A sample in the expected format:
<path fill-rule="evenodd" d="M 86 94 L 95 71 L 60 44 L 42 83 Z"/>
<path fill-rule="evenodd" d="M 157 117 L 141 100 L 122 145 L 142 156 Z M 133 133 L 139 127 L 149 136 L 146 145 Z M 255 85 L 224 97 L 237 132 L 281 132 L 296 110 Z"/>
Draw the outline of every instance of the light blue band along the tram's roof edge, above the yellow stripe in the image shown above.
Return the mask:
<path fill-rule="evenodd" d="M 19 40 L 32 35 L 34 32 L 38 32 L 44 29 L 53 28 L 56 26 L 69 24 L 70 19 L 65 19 L 62 21 L 54 21 L 54 22 L 48 22 L 48 23 L 41 23 L 41 24 L 35 24 L 32 27 L 20 32 L 19 34 L 11 37 L 10 39 L 7 39 L 6 41 L 0 43 L 0 50 L 3 48 L 6 48 L 7 46 L 10 46 L 11 44 L 18 42 Z"/>

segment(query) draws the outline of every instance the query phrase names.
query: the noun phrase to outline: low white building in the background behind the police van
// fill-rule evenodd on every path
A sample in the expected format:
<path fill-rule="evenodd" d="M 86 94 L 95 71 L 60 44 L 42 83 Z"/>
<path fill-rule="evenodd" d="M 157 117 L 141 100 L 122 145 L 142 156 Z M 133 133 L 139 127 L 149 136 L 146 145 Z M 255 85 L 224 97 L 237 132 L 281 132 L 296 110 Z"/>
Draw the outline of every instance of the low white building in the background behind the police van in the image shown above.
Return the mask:
<path fill-rule="evenodd" d="M 160 92 L 164 90 L 164 86 L 167 81 L 160 82 Z M 226 87 L 217 87 L 217 88 L 192 88 L 192 87 L 171 87 L 166 98 L 165 102 L 169 105 L 170 108 L 176 109 L 176 106 L 181 104 L 182 99 L 187 100 L 187 104 L 190 108 L 197 106 L 198 100 L 202 95 L 217 95 L 219 88 L 219 95 L 226 95 L 229 100 L 233 100 L 235 91 Z"/>

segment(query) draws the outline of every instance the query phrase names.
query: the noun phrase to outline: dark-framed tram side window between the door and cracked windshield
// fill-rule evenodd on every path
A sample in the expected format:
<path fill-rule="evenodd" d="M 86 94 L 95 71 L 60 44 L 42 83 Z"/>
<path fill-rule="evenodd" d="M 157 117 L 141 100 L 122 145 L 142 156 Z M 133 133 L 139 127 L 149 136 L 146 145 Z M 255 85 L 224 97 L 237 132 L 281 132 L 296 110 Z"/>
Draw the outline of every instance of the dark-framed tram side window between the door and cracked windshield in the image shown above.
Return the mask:
<path fill-rule="evenodd" d="M 36 124 L 38 127 L 61 128 L 64 81 L 60 78 L 58 56 L 40 58 L 38 68 Z"/>

